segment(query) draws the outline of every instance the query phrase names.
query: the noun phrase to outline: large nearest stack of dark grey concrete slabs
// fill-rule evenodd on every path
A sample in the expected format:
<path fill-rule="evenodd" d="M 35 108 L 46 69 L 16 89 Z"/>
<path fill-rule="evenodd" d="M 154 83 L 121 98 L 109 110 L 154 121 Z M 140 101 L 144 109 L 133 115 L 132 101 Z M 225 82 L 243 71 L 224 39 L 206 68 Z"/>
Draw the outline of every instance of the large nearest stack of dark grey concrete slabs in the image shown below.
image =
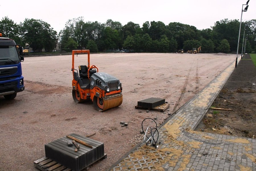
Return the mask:
<path fill-rule="evenodd" d="M 82 170 L 104 157 L 104 143 L 74 133 L 69 135 L 91 145 L 92 148 L 78 143 L 79 148 L 75 152 L 75 145 L 67 145 L 70 139 L 62 137 L 44 145 L 45 156 L 74 171 Z"/>

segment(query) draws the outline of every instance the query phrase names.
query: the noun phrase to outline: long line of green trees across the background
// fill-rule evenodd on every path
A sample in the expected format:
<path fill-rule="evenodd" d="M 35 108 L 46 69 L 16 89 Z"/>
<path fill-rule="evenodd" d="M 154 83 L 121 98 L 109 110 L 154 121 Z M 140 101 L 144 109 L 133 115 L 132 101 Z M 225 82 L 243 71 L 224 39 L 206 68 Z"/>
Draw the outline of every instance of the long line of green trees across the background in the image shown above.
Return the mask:
<path fill-rule="evenodd" d="M 25 19 L 20 24 L 8 17 L 0 21 L 3 36 L 13 38 L 18 44 L 28 43 L 34 51 L 52 51 L 59 42 L 61 49 L 90 49 L 91 52 L 128 49 L 133 52 L 177 52 L 201 46 L 202 52 L 236 52 L 240 22 L 223 19 L 213 27 L 198 30 L 194 26 L 172 22 L 146 21 L 142 27 L 128 22 L 122 25 L 108 19 L 106 23 L 84 21 L 83 17 L 69 19 L 57 32 L 46 22 Z M 242 22 L 239 52 L 242 50 L 244 28 L 246 52 L 256 51 L 256 19 Z"/>

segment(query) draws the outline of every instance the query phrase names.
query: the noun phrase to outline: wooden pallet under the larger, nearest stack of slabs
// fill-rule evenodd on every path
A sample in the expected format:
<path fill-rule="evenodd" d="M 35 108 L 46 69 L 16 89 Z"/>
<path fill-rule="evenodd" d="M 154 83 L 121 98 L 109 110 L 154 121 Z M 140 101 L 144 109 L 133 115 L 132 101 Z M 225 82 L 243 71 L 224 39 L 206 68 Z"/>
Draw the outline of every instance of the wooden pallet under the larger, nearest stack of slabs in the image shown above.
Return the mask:
<path fill-rule="evenodd" d="M 99 158 L 98 160 L 104 158 L 107 158 L 107 154 L 105 154 L 102 158 Z M 97 162 L 98 160 L 96 160 L 95 162 Z M 90 165 L 86 166 L 83 170 L 88 170 Z M 72 171 L 66 166 L 63 166 L 47 157 L 43 157 L 34 161 L 34 167 L 42 171 Z"/>

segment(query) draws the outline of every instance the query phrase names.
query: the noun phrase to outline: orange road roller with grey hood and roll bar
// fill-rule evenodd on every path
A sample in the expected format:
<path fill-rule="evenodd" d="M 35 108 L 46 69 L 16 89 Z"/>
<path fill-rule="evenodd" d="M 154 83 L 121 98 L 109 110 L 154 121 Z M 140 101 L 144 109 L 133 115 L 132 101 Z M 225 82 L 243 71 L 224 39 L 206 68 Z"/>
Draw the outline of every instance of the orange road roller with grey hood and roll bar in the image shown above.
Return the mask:
<path fill-rule="evenodd" d="M 74 68 L 75 54 L 87 53 L 88 65 Z M 90 66 L 90 50 L 72 51 L 72 96 L 76 103 L 92 101 L 97 111 L 118 107 L 123 102 L 122 84 L 120 81 L 92 65 Z"/>

